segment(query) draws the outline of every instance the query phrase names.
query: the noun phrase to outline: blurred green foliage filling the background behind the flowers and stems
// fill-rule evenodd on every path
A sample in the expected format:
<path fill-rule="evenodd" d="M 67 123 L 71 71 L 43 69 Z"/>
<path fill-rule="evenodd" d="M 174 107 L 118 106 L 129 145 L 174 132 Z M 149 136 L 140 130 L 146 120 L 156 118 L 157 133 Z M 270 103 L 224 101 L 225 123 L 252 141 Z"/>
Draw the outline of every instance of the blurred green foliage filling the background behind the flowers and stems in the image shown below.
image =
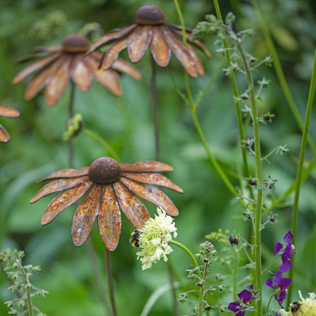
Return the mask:
<path fill-rule="evenodd" d="M 281 59 L 290 90 L 302 117 L 309 91 L 313 55 L 316 43 L 316 9 L 314 0 L 262 0 L 258 1 L 272 33 L 277 52 Z M 35 305 L 47 315 L 104 315 L 100 300 L 102 291 L 98 288 L 93 268 L 93 259 L 88 255 L 87 243 L 75 247 L 71 238 L 72 216 L 76 205 L 62 212 L 52 223 L 42 227 L 41 217 L 52 200 L 45 197 L 31 205 L 29 200 L 42 185 L 36 181 L 49 173 L 68 167 L 67 144 L 61 140 L 67 121 L 70 89 L 63 94 L 58 104 L 46 106 L 43 92 L 33 100 L 24 100 L 27 78 L 13 86 L 11 81 L 22 68 L 15 60 L 31 53 L 34 46 L 60 45 L 64 36 L 77 33 L 87 23 L 98 23 L 96 40 L 105 32 L 133 23 L 137 9 L 145 4 L 156 4 L 165 12 L 168 22 L 179 24 L 172 0 L 158 1 L 110 1 L 110 0 L 2 0 L 0 10 L 0 102 L 21 113 L 18 119 L 0 118 L 1 124 L 11 136 L 8 143 L 0 144 L 0 249 L 22 249 L 26 252 L 24 264 L 41 265 L 40 274 L 33 277 L 33 284 L 50 292 L 45 299 L 38 299 Z M 208 0 L 180 1 L 185 24 L 195 27 L 206 14 L 215 14 L 213 3 Z M 258 17 L 248 1 L 220 1 L 222 15 L 233 11 L 237 16 L 235 30 L 254 28 L 253 40 L 246 42 L 246 50 L 259 59 L 269 55 L 269 50 L 260 29 Z M 214 48 L 215 38 L 203 39 L 212 53 L 211 58 L 202 53 L 199 56 L 205 69 L 205 76 L 190 79 L 194 95 L 207 84 L 217 65 L 222 62 Z M 127 60 L 126 52 L 121 57 Z M 104 137 L 118 152 L 123 162 L 153 160 L 155 157 L 154 133 L 151 119 L 149 93 L 150 63 L 149 52 L 135 67 L 141 71 L 140 82 L 129 76 L 121 77 L 123 96 L 114 97 L 98 83 L 86 93 L 76 90 L 75 112 L 80 112 L 85 126 Z M 265 163 L 264 178 L 271 175 L 278 179 L 275 196 L 282 194 L 295 179 L 299 157 L 301 132 L 289 110 L 276 78 L 273 67 L 262 65 L 255 75 L 272 82 L 262 93 L 260 111 L 270 111 L 276 117 L 272 124 L 261 125 L 262 153 L 266 155 L 278 145 L 287 144 L 289 152 L 283 156 L 272 155 L 270 164 Z M 250 222 L 243 222 L 241 204 L 236 201 L 210 164 L 199 142 L 191 114 L 183 100 L 174 91 L 171 75 L 179 89 L 184 91 L 183 69 L 174 56 L 165 68 L 157 69 L 159 89 L 159 116 L 161 131 L 161 161 L 174 167 L 167 176 L 184 189 L 184 194 L 165 190 L 179 209 L 175 219 L 178 228 L 177 240 L 198 252 L 204 235 L 219 228 L 236 230 L 249 237 Z M 244 79 L 237 76 L 240 92 L 245 88 Z M 227 171 L 234 185 L 238 186 L 237 174 L 241 168 L 241 157 L 235 106 L 230 80 L 221 73 L 206 94 L 198 108 L 198 116 L 214 155 Z M 252 138 L 251 125 L 246 123 L 246 138 Z M 312 113 L 310 134 L 316 139 L 315 112 Z M 89 166 L 92 161 L 108 155 L 94 139 L 81 134 L 74 139 L 75 167 Z M 306 160 L 312 154 L 307 149 Z M 254 159 L 249 156 L 252 174 Z M 296 239 L 295 279 L 293 288 L 301 289 L 303 296 L 315 291 L 316 270 L 316 172 L 303 184 L 300 197 L 299 235 Z M 168 191 L 168 192 L 167 192 Z M 263 261 L 269 262 L 274 255 L 274 246 L 281 241 L 291 225 L 293 196 L 284 207 L 274 210 L 278 223 L 268 225 L 262 232 L 264 245 Z M 151 216 L 155 207 L 146 204 Z M 263 220 L 265 220 L 265 217 Z M 117 249 L 112 253 L 115 281 L 115 298 L 119 315 L 139 315 L 149 295 L 157 288 L 168 284 L 167 264 L 159 262 L 152 269 L 142 271 L 136 260 L 137 250 L 131 247 L 129 237 L 134 230 L 123 216 L 122 233 Z M 95 249 L 96 266 L 106 285 L 104 273 L 104 244 L 94 225 L 89 243 Z M 218 252 L 221 245 L 216 244 Z M 169 256 L 176 268 L 179 279 L 187 290 L 190 280 L 185 269 L 191 262 L 179 249 Z M 246 264 L 246 259 L 241 264 Z M 276 262 L 270 270 L 276 271 Z M 263 264 L 264 266 L 264 264 Z M 217 264 L 218 273 L 224 273 L 223 284 L 231 284 L 231 275 L 223 264 Z M 239 279 L 248 272 L 240 271 Z M 271 275 L 264 275 L 264 282 Z M 243 286 L 242 284 L 241 286 Z M 0 271 L 0 302 L 12 298 L 9 286 Z M 240 288 L 241 290 L 242 288 Z M 107 289 L 105 289 L 107 294 Z M 269 290 L 264 303 L 270 297 Z M 220 297 L 219 297 L 220 296 Z M 293 297 L 297 300 L 298 297 Z M 210 304 L 228 304 L 232 301 L 229 287 L 214 295 Z M 265 304 L 264 304 L 265 305 Z M 276 306 L 274 306 L 276 307 Z M 181 313 L 188 313 L 188 307 L 180 307 Z M 0 314 L 8 308 L 0 303 Z M 217 313 L 214 311 L 213 313 Z M 225 312 L 231 314 L 232 312 Z M 171 315 L 171 294 L 167 291 L 154 304 L 150 315 Z"/>

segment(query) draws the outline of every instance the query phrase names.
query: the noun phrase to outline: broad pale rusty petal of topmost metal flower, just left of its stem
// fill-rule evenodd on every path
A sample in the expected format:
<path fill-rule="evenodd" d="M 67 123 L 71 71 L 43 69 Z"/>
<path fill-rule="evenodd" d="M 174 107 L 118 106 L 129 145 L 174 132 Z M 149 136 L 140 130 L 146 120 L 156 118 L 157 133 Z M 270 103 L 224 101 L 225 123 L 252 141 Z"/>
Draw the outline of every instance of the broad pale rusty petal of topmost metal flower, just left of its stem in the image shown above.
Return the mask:
<path fill-rule="evenodd" d="M 133 63 L 138 63 L 143 58 L 153 37 L 152 28 L 151 25 L 138 26 L 130 35 L 127 52 Z"/>

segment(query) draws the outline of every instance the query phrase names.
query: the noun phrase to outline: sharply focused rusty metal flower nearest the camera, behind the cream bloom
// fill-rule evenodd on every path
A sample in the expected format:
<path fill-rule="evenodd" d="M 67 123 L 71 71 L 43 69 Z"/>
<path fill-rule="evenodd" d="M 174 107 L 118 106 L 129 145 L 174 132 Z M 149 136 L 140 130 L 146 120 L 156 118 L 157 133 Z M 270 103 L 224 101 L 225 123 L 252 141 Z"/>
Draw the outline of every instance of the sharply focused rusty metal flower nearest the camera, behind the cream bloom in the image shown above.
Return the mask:
<path fill-rule="evenodd" d="M 155 187 L 148 186 L 148 184 L 158 185 L 182 193 L 183 190 L 179 186 L 159 174 L 172 170 L 172 167 L 158 161 L 119 164 L 112 158 L 101 157 L 90 167 L 79 170 L 63 169 L 42 179 L 57 180 L 41 188 L 30 202 L 34 203 L 53 192 L 67 190 L 55 197 L 48 205 L 42 218 L 42 225 L 45 225 L 91 189 L 74 215 L 72 224 L 74 244 L 81 246 L 87 240 L 94 219 L 98 216 L 101 237 L 106 247 L 114 250 L 121 233 L 119 208 L 136 228 L 142 228 L 149 219 L 145 205 L 133 194 L 161 206 L 167 214 L 178 215 L 177 208 L 166 194 Z"/>

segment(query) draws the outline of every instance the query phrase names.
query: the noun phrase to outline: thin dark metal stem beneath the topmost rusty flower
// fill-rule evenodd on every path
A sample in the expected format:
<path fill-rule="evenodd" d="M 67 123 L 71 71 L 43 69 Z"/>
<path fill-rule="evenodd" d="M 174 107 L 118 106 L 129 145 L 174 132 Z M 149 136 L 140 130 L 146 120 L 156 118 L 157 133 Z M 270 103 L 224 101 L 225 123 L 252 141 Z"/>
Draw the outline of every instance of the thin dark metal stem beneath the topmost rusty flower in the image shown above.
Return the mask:
<path fill-rule="evenodd" d="M 151 64 L 151 81 L 150 81 L 150 93 L 151 102 L 153 109 L 153 123 L 155 130 L 155 159 L 160 161 L 160 144 L 159 144 L 159 120 L 158 120 L 158 101 L 157 101 L 157 84 L 156 84 L 156 65 L 155 59 L 150 54 L 150 64 Z"/>

